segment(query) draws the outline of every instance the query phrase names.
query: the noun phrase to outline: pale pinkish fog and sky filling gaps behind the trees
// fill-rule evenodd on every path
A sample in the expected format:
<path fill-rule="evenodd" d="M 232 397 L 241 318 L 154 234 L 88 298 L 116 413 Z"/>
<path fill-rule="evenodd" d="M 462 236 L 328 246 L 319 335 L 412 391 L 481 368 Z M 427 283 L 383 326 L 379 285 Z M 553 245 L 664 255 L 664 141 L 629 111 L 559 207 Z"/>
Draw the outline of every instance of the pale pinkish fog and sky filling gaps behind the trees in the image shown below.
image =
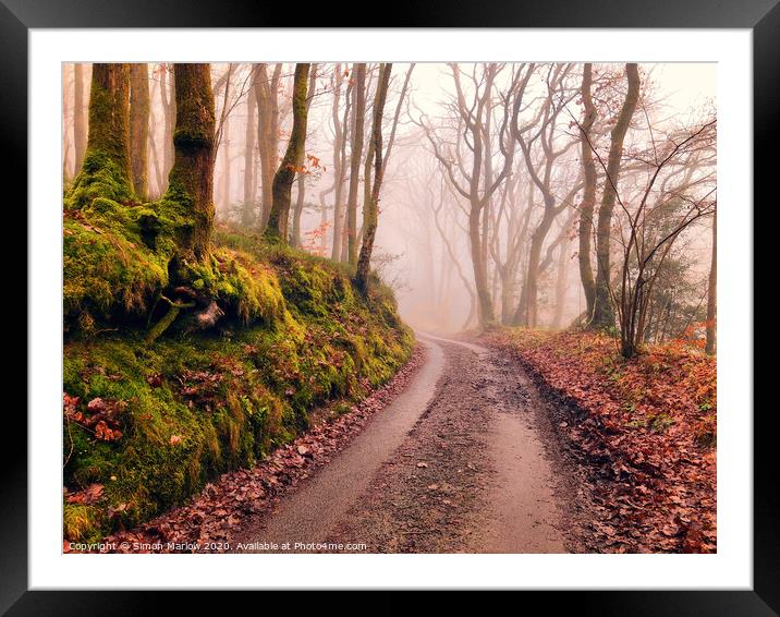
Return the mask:
<path fill-rule="evenodd" d="M 279 165 L 290 136 L 294 71 L 294 64 L 258 66 L 211 65 L 217 220 L 252 232 L 261 231 L 268 170 Z M 172 165 L 166 144 L 175 109 L 171 65 L 148 69 L 148 198 L 154 199 L 163 193 Z M 86 114 L 88 104 L 89 66 L 81 70 L 77 80 L 74 65 L 63 66 L 66 181 L 77 173 L 76 116 L 80 109 Z M 626 319 L 621 293 L 643 285 L 647 290 L 645 340 L 681 336 L 707 319 L 716 66 L 639 64 L 638 98 L 617 157 L 611 156 L 614 129 L 631 94 L 626 65 L 597 63 L 590 70 L 596 111 L 588 129 L 581 63 L 392 65 L 371 263 L 395 290 L 407 323 L 456 332 L 501 323 L 560 328 L 588 320 L 593 307 L 583 267 L 598 279 L 599 246 L 609 254 L 606 285 L 619 320 Z M 301 206 L 300 225 L 291 225 L 291 241 L 310 253 L 349 261 L 342 246 L 349 231 L 355 68 L 327 63 L 313 71 L 306 160 L 292 196 Z M 377 71 L 378 65 L 367 65 L 358 238 Z M 270 104 L 257 99 L 260 80 Z M 276 124 L 264 129 L 269 113 Z M 269 134 L 275 126 L 276 134 Z M 595 183 L 588 184 L 584 156 L 593 159 Z M 619 176 L 608 171 L 612 158 Z M 585 239 L 582 206 L 588 185 L 595 190 L 595 207 Z M 597 216 L 609 206 L 605 191 L 610 190 L 613 211 L 599 235 Z M 589 244 L 585 266 L 583 242 Z"/>

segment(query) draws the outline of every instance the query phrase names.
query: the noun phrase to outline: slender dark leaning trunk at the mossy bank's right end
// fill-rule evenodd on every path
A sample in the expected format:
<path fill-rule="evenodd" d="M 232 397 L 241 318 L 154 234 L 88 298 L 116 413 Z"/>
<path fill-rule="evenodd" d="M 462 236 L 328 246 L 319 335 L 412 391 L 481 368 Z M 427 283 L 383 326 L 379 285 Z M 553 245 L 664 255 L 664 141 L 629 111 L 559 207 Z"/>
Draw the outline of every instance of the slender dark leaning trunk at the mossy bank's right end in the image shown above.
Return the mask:
<path fill-rule="evenodd" d="M 374 143 L 374 187 L 371 189 L 371 198 L 363 204 L 363 244 L 361 245 L 361 254 L 357 257 L 357 271 L 355 275 L 357 288 L 364 293 L 368 290 L 368 271 L 379 218 L 379 191 L 382 185 L 382 178 L 385 177 L 382 161 L 382 113 L 385 112 L 391 70 L 392 64 L 390 63 L 381 65 L 381 74 L 377 83 L 376 96 L 374 97 L 374 124 L 371 128 L 371 142 Z"/>

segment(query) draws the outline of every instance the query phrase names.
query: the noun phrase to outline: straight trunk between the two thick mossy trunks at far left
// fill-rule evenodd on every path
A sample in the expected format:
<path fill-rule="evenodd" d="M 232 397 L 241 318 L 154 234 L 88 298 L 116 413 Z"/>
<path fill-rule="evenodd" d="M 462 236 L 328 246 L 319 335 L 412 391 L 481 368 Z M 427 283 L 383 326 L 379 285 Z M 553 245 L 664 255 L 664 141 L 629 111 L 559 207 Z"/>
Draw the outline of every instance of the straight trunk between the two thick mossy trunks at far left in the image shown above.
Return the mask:
<path fill-rule="evenodd" d="M 149 197 L 149 65 L 130 65 L 130 144 L 135 195 Z"/>

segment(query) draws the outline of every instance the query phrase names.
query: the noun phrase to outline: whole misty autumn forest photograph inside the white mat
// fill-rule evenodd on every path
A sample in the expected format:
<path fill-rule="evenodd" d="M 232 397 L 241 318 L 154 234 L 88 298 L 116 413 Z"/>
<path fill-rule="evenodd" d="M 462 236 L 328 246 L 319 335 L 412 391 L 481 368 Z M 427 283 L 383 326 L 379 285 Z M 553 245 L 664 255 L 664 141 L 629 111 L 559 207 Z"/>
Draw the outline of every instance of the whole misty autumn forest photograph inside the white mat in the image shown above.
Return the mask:
<path fill-rule="evenodd" d="M 714 552 L 714 93 L 63 64 L 63 551 Z"/>

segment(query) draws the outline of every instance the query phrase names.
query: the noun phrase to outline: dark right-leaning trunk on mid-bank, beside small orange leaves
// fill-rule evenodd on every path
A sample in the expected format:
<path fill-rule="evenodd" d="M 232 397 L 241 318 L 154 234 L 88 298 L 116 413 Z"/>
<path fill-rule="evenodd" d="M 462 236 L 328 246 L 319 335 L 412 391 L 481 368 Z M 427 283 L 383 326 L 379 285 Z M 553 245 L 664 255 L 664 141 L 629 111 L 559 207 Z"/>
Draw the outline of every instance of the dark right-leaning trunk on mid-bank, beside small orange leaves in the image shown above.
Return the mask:
<path fill-rule="evenodd" d="M 290 221 L 290 202 L 292 197 L 292 184 L 295 173 L 303 164 L 306 145 L 306 88 L 308 70 L 312 65 L 306 63 L 295 64 L 295 77 L 293 82 L 293 128 L 290 133 L 284 158 L 282 159 L 276 176 L 273 177 L 273 203 L 266 227 L 266 238 L 278 242 L 288 241 L 288 225 Z"/>

